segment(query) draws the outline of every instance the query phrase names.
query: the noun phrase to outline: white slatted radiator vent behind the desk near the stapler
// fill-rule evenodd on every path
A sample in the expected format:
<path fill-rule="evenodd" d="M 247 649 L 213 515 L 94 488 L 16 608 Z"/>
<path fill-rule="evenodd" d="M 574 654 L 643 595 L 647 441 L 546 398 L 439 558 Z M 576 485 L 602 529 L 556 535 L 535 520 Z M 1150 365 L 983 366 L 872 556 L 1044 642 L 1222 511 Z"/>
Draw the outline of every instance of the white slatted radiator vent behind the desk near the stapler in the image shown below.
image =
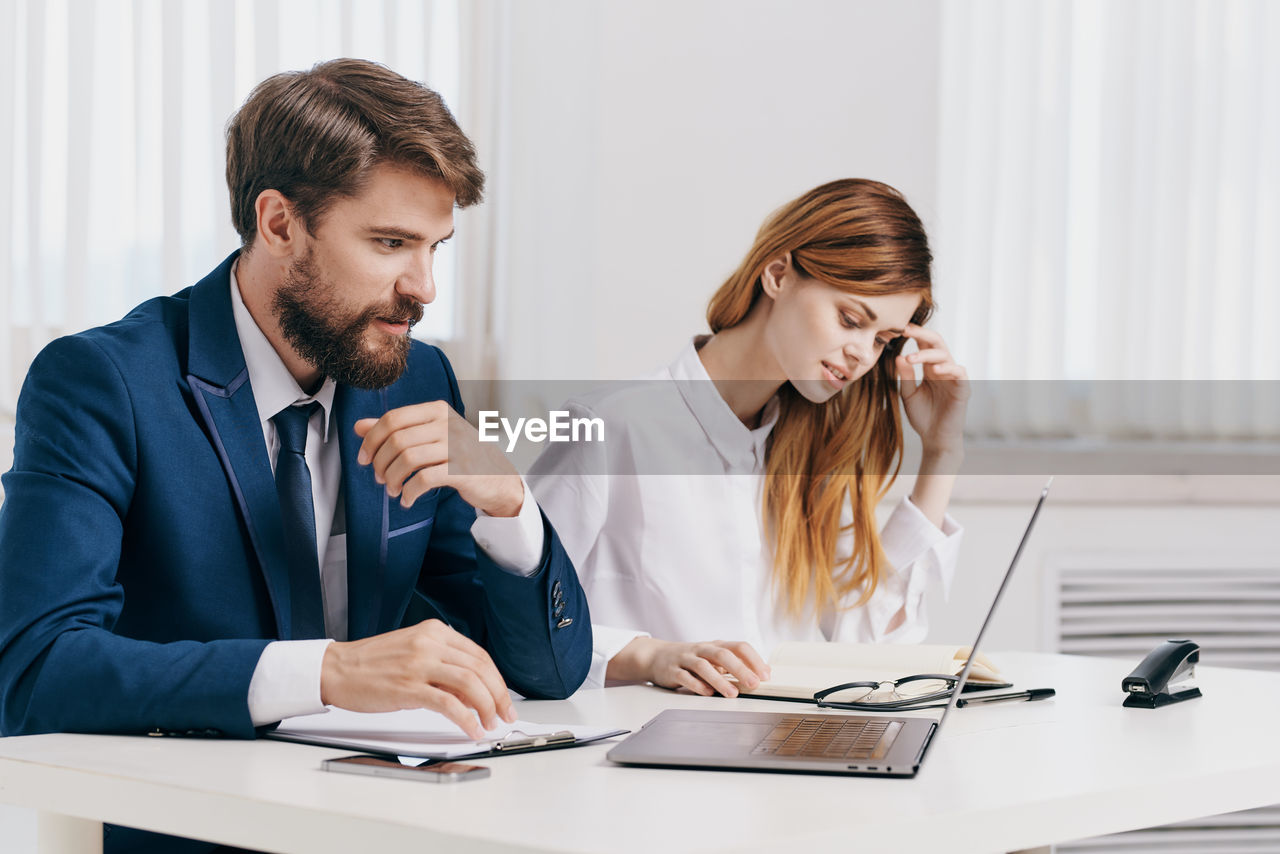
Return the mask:
<path fill-rule="evenodd" d="M 1057 556 L 1046 621 L 1052 645 L 1134 665 L 1171 638 L 1201 647 L 1201 663 L 1280 671 L 1280 558 L 1151 554 Z M 1066 853 L 1260 854 L 1280 851 L 1280 805 L 1056 846 Z"/>

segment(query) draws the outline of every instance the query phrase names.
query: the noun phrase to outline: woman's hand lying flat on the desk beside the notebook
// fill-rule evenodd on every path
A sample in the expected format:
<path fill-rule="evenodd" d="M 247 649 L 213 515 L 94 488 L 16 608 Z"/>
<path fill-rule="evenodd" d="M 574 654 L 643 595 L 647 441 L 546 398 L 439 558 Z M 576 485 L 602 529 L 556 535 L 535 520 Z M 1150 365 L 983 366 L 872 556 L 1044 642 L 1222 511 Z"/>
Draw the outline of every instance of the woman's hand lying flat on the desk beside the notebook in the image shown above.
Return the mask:
<path fill-rule="evenodd" d="M 744 640 L 678 643 L 636 638 L 609 659 L 607 679 L 737 697 L 769 677 L 769 666 Z M 735 684 L 736 682 L 736 684 Z"/>

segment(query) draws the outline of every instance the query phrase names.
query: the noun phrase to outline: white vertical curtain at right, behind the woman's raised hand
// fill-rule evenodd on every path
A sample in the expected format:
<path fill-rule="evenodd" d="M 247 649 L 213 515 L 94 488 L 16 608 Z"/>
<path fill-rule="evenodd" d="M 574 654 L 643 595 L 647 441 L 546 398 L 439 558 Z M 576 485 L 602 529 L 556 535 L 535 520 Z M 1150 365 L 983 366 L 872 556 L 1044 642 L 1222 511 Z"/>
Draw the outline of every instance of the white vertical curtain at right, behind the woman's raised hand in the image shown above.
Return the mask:
<path fill-rule="evenodd" d="M 1280 434 L 1280 4 L 941 9 L 940 323 L 992 380 L 978 431 Z"/>

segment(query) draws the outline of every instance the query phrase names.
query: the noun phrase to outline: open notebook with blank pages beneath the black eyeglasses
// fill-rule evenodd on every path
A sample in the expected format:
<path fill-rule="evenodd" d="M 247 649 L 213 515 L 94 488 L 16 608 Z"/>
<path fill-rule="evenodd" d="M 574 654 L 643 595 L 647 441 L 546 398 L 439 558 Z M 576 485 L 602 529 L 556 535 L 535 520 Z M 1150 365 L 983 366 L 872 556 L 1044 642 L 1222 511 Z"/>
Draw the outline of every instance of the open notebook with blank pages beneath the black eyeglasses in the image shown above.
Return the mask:
<path fill-rule="evenodd" d="M 955 676 L 968 657 L 969 647 L 946 644 L 785 643 L 769 657 L 772 679 L 742 697 L 813 702 L 817 691 L 844 682 L 878 682 L 915 673 Z M 978 653 L 965 688 L 1010 686 L 991 659 Z M 837 693 L 827 699 L 841 702 L 846 698 Z"/>

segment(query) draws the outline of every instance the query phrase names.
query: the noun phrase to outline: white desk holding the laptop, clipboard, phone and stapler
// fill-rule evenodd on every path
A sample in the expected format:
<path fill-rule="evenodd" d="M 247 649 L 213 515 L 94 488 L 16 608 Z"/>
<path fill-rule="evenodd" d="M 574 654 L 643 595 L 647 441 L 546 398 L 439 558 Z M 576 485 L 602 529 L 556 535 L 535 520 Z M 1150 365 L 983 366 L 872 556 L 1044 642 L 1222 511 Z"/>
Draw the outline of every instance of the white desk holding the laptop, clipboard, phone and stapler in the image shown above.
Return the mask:
<path fill-rule="evenodd" d="M 86 850 L 77 835 L 106 821 L 316 854 L 1009 851 L 1280 803 L 1280 675 L 1202 668 L 1206 697 L 1125 709 L 1130 662 L 995 658 L 1059 697 L 957 709 L 915 780 L 623 768 L 603 743 L 428 785 L 321 772 L 346 752 L 278 741 L 41 735 L 0 739 L 0 800 L 42 810 L 70 841 L 49 850 Z M 631 686 L 517 712 L 637 729 L 676 705 L 797 708 Z"/>

